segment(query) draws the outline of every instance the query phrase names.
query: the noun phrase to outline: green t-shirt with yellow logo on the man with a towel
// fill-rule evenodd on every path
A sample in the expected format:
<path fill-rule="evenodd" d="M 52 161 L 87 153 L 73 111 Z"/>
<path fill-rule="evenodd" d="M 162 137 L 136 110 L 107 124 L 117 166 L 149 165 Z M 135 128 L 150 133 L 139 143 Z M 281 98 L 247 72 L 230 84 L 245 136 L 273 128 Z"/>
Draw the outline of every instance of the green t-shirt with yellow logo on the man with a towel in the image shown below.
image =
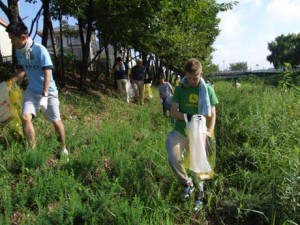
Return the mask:
<path fill-rule="evenodd" d="M 214 89 L 207 85 L 208 95 L 211 106 L 219 103 Z M 198 98 L 199 87 L 182 87 L 177 86 L 174 91 L 172 102 L 179 104 L 179 111 L 188 115 L 198 114 Z M 176 120 L 175 130 L 179 131 L 182 135 L 185 133 L 186 124 L 184 120 Z"/>

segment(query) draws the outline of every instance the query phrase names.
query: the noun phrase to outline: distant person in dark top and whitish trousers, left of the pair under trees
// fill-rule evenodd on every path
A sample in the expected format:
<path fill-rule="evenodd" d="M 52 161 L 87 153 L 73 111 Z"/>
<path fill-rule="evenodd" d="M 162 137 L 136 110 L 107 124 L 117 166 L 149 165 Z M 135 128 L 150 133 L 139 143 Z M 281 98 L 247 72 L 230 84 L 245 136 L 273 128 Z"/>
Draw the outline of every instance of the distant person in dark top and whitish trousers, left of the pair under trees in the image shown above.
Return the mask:
<path fill-rule="evenodd" d="M 118 91 L 121 95 L 124 95 L 125 101 L 130 103 L 129 100 L 129 88 L 128 88 L 128 74 L 126 65 L 121 57 L 117 57 L 116 64 L 113 67 L 114 76 L 117 81 Z"/>

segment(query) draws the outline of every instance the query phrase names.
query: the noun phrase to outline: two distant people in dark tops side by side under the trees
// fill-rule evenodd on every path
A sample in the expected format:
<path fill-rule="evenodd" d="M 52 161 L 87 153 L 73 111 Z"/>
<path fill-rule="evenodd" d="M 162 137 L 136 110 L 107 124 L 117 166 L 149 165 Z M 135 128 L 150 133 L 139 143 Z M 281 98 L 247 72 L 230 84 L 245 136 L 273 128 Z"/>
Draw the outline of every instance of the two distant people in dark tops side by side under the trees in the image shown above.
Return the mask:
<path fill-rule="evenodd" d="M 135 60 L 136 65 L 128 71 L 128 66 L 121 57 L 116 58 L 113 67 L 114 78 L 117 81 L 117 88 L 121 95 L 126 98 L 126 102 L 130 103 L 131 93 L 130 86 L 133 89 L 135 100 L 144 105 L 144 99 L 152 98 L 151 82 L 152 79 L 147 77 L 146 67 L 143 66 L 142 59 Z"/>

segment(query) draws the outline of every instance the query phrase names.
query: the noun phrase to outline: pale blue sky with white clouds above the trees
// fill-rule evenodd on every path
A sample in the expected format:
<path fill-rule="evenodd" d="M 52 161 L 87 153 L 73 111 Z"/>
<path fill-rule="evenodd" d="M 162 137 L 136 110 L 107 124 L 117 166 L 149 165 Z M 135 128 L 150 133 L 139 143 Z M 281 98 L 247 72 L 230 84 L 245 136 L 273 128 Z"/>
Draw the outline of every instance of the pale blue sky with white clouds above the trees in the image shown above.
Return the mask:
<path fill-rule="evenodd" d="M 230 2 L 232 0 L 217 0 Z M 39 10 L 39 4 L 20 0 L 20 15 L 30 27 Z M 239 0 L 232 10 L 221 12 L 218 17 L 220 34 L 213 45 L 213 63 L 220 70 L 230 63 L 247 62 L 251 70 L 272 68 L 266 57 L 271 54 L 268 43 L 281 34 L 300 33 L 300 0 Z M 7 20 L 0 10 L 0 17 Z M 71 21 L 70 21 L 71 22 Z M 39 22 L 41 29 L 42 21 Z M 58 23 L 54 23 L 58 26 Z M 39 40 L 36 40 L 39 41 Z"/>

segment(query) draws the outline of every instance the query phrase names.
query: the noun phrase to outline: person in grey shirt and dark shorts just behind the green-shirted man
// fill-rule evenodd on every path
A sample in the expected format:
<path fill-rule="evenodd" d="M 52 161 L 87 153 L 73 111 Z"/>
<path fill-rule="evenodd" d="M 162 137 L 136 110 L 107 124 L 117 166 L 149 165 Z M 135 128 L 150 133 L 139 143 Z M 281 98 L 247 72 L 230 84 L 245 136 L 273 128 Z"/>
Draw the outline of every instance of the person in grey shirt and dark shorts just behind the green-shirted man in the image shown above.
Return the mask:
<path fill-rule="evenodd" d="M 164 116 L 167 116 L 167 111 L 170 111 L 171 108 L 171 105 L 167 100 L 174 94 L 174 91 L 172 85 L 165 81 L 164 76 L 159 78 L 158 91 L 163 106 L 163 114 Z"/>

